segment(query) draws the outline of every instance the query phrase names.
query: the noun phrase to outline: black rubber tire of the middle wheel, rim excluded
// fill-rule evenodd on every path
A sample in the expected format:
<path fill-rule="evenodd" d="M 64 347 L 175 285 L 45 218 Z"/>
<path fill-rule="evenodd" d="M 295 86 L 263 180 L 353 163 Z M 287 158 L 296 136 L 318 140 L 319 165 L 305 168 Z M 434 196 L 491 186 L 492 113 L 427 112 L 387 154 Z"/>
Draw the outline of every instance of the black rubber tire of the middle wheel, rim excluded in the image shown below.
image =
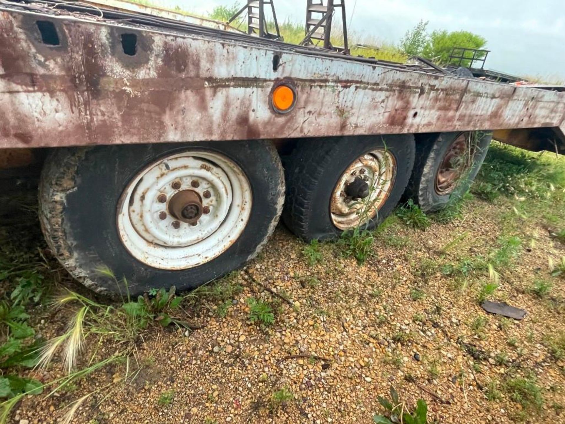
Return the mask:
<path fill-rule="evenodd" d="M 360 155 L 386 147 L 397 163 L 389 196 L 364 228 L 371 229 L 393 211 L 410 178 L 414 163 L 414 136 L 358 136 L 299 142 L 285 160 L 284 223 L 305 240 L 329 240 L 343 232 L 334 226 L 330 199 L 337 180 Z"/>

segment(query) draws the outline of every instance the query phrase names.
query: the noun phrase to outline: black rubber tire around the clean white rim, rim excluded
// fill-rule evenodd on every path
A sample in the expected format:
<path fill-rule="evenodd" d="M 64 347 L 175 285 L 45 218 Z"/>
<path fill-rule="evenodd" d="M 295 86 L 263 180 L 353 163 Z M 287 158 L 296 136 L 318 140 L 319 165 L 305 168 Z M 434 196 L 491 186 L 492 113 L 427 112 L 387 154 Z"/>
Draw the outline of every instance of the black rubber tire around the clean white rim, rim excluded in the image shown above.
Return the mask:
<path fill-rule="evenodd" d="M 121 243 L 116 228 L 120 196 L 147 163 L 188 149 L 220 153 L 241 168 L 253 196 L 249 219 L 227 250 L 202 265 L 182 270 L 147 266 Z M 284 172 L 276 149 L 263 140 L 62 148 L 46 159 L 39 196 L 47 243 L 71 275 L 97 292 L 123 291 L 101 274 L 107 267 L 136 295 L 172 285 L 195 288 L 255 257 L 279 220 Z"/>

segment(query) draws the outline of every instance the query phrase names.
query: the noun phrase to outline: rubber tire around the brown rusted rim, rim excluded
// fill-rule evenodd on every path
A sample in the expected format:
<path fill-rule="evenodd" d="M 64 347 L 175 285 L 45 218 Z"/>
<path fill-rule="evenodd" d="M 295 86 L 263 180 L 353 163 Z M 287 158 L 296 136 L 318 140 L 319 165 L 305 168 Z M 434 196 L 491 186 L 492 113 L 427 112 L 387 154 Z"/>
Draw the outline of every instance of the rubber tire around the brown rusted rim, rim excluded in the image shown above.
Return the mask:
<path fill-rule="evenodd" d="M 457 201 L 471 187 L 479 168 L 483 165 L 492 138 L 491 132 L 479 134 L 470 166 L 455 181 L 453 191 L 446 194 L 436 191 L 437 172 L 447 149 L 462 134 L 462 132 L 443 132 L 416 138 L 416 159 L 406 187 L 405 198 L 414 200 L 424 212 L 435 212 Z"/>

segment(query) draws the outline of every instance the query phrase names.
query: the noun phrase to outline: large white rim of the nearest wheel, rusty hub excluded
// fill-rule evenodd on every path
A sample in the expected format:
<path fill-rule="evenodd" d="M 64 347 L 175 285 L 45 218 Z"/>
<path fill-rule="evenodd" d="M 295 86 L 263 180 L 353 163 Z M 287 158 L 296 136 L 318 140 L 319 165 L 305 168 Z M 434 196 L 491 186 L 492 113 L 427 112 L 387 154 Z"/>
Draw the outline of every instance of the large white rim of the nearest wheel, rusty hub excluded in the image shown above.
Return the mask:
<path fill-rule="evenodd" d="M 195 224 L 169 211 L 169 201 L 181 191 L 195 192 L 208 208 Z M 218 257 L 238 239 L 251 204 L 249 180 L 231 159 L 204 151 L 172 154 L 145 167 L 124 189 L 118 232 L 128 252 L 145 265 L 189 269 Z"/>

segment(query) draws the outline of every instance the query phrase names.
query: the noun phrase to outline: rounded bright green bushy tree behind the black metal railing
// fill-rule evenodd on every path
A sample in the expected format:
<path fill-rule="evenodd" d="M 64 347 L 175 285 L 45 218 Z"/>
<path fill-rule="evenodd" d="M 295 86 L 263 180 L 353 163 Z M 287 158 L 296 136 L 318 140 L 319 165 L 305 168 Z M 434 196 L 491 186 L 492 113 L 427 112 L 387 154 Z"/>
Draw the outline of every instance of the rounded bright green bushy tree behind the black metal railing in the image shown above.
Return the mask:
<path fill-rule="evenodd" d="M 429 36 L 422 50 L 425 58 L 434 62 L 447 65 L 453 47 L 466 47 L 467 49 L 482 49 L 486 45 L 486 38 L 469 31 L 447 32 L 434 31 Z M 469 66 L 469 60 L 463 60 L 462 66 Z"/>

